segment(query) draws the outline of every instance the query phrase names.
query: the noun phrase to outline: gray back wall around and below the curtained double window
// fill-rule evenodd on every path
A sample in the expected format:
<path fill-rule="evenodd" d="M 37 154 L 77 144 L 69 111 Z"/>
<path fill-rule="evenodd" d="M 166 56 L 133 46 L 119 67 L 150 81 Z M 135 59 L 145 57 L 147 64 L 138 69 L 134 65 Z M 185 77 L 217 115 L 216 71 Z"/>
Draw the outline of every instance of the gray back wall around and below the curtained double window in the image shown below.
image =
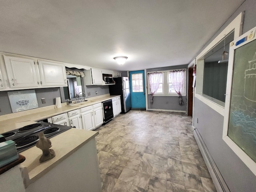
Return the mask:
<path fill-rule="evenodd" d="M 180 69 L 180 68 L 188 68 L 188 65 L 151 68 L 151 69 L 147 69 L 146 71 L 147 72 L 153 72 L 153 71 Z M 186 88 L 188 90 L 188 84 L 187 84 Z M 186 92 L 187 92 L 187 90 L 186 90 Z M 153 104 L 150 103 L 150 95 L 147 95 L 147 97 L 148 97 L 148 109 L 164 109 L 164 110 L 186 111 L 187 94 L 186 94 L 186 96 L 182 96 L 182 99 L 183 99 L 183 102 L 184 102 L 183 106 L 179 105 L 178 96 L 154 96 Z"/>

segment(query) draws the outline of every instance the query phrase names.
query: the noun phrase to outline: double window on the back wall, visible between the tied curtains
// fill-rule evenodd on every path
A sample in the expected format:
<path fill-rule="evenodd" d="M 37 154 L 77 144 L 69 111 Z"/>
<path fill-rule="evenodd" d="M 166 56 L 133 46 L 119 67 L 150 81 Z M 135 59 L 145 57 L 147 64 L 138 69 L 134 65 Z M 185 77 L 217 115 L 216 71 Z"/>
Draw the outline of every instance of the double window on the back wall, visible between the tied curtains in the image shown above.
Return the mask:
<path fill-rule="evenodd" d="M 160 81 L 159 88 L 154 94 L 154 96 L 177 96 L 177 93 L 174 90 L 174 86 L 170 78 L 170 70 L 158 71 L 158 72 L 162 72 L 162 79 Z M 182 96 L 185 96 L 186 95 L 186 69 L 184 69 L 184 71 L 181 71 L 180 73 L 184 73 L 184 80 L 183 80 L 181 94 Z M 149 80 L 148 80 L 148 94 L 150 94 Z"/>

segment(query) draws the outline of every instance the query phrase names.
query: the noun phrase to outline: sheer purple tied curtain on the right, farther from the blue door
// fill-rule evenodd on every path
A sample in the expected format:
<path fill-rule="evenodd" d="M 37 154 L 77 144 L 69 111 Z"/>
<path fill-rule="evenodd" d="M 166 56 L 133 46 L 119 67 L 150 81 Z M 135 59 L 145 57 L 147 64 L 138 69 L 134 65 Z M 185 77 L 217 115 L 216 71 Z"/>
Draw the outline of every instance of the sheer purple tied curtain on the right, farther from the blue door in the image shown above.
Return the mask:
<path fill-rule="evenodd" d="M 184 84 L 185 71 L 186 70 L 184 69 L 170 71 L 170 79 L 171 79 L 172 86 L 175 92 L 178 94 L 178 98 L 180 98 L 179 105 L 184 104 L 182 100 L 181 92 Z"/>

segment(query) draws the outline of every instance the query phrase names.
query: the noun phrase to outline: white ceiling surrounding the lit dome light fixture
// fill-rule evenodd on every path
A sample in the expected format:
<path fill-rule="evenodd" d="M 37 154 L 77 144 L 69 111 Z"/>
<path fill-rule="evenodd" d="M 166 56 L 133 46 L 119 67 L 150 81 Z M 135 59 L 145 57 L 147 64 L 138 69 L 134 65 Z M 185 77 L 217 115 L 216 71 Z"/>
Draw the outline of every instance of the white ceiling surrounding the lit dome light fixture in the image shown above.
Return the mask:
<path fill-rule="evenodd" d="M 242 2 L 1 0 L 0 51 L 120 71 L 188 64 Z"/>

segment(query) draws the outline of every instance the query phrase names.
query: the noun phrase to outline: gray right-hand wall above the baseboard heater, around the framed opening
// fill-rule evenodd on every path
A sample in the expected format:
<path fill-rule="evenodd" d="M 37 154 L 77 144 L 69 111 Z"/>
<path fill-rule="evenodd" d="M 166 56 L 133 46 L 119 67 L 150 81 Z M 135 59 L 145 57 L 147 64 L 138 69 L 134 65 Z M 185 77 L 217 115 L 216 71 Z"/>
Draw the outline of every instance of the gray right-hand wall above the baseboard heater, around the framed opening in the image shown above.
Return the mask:
<path fill-rule="evenodd" d="M 211 42 L 240 12 L 245 11 L 243 33 L 256 26 L 256 1 L 246 0 L 216 32 Z M 206 44 L 207 46 L 208 44 Z M 200 53 L 200 50 L 198 53 Z M 256 176 L 222 140 L 224 118 L 195 98 L 194 126 L 199 130 L 214 162 L 231 192 L 256 191 Z M 198 118 L 198 124 L 196 120 Z"/>

